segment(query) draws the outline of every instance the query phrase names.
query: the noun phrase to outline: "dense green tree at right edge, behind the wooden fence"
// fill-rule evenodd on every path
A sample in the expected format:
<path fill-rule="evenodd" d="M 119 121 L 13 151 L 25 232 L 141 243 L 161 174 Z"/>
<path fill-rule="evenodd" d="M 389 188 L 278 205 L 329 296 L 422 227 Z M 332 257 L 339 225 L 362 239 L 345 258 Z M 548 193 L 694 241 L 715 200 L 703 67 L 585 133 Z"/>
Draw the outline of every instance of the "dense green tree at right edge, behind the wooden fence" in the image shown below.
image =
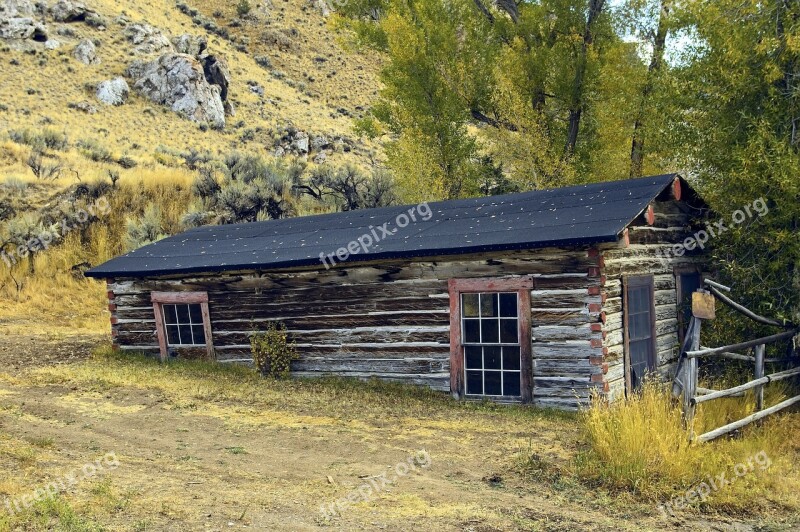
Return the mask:
<path fill-rule="evenodd" d="M 691 1 L 676 18 L 696 44 L 673 72 L 671 149 L 723 219 L 769 207 L 715 239 L 715 258 L 741 300 L 800 322 L 800 5 Z"/>

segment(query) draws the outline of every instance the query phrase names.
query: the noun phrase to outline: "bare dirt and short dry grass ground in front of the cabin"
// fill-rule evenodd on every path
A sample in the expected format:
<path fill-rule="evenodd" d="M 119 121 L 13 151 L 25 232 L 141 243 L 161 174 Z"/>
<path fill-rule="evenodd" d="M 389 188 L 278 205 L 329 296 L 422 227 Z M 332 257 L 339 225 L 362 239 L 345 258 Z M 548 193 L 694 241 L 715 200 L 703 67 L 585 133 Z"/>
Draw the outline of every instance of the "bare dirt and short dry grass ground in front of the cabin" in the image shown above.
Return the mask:
<path fill-rule="evenodd" d="M 108 530 L 793 527 L 784 516 L 766 524 L 666 519 L 655 504 L 561 482 L 558 463 L 577 445 L 576 424 L 568 418 L 534 417 L 522 426 L 492 411 L 446 420 L 413 412 L 387 419 L 337 416 L 337 408 L 358 407 L 344 400 L 325 412 L 295 406 L 253 411 L 211 392 L 198 403 L 100 380 L 42 384 L 27 373 L 32 366 L 84 360 L 102 340 L 0 335 L 0 469 L 8 474 L 0 480 L 0 502 L 113 452 L 117 467 L 104 467 L 60 495 L 87 522 Z M 422 450 L 427 455 L 418 456 L 416 471 L 405 473 Z M 533 476 L 519 473 L 519 457 L 531 452 L 547 474 L 537 477 L 536 464 Z M 359 489 L 366 501 L 351 495 Z M 323 516 L 322 505 L 348 496 L 359 502 Z M 67 529 L 63 520 L 21 523 Z"/>

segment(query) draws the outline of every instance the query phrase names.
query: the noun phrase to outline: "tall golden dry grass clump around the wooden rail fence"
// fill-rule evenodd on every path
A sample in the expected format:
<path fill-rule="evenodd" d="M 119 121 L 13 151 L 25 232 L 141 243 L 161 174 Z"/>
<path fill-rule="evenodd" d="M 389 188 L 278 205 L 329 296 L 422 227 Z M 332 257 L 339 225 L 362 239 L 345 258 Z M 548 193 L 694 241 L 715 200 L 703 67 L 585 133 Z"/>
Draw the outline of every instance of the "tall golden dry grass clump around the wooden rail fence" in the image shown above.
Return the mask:
<path fill-rule="evenodd" d="M 786 389 L 767 388 L 767 404 L 780 401 Z M 702 433 L 753 410 L 752 396 L 703 404 L 698 408 L 695 432 Z M 697 506 L 732 513 L 767 512 L 774 508 L 800 509 L 800 420 L 784 413 L 751 426 L 736 438 L 690 444 L 682 426 L 681 407 L 662 385 L 647 384 L 628 401 L 594 406 L 583 413 L 589 449 L 577 462 L 580 476 L 615 491 L 667 503 L 709 478 L 734 476 L 737 464 L 765 453 L 771 465 L 756 467 L 725 488 L 714 491 Z M 761 455 L 763 456 L 763 455 Z"/>

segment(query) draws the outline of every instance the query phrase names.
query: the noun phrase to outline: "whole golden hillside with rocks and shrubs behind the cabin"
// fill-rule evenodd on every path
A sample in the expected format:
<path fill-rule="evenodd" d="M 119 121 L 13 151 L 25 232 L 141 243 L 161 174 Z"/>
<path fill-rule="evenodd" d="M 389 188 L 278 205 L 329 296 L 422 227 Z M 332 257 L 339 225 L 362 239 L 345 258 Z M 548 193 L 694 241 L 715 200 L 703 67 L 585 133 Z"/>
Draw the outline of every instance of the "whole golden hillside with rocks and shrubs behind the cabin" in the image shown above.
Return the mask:
<path fill-rule="evenodd" d="M 251 200 L 336 208 L 292 185 L 383 159 L 353 132 L 380 59 L 347 49 L 329 15 L 308 0 L 0 0 L 4 331 L 105 331 L 104 287 L 82 272 L 212 210 L 192 187 L 202 168 L 242 200 L 227 221 L 265 215 Z M 99 200 L 108 213 L 20 256 Z"/>

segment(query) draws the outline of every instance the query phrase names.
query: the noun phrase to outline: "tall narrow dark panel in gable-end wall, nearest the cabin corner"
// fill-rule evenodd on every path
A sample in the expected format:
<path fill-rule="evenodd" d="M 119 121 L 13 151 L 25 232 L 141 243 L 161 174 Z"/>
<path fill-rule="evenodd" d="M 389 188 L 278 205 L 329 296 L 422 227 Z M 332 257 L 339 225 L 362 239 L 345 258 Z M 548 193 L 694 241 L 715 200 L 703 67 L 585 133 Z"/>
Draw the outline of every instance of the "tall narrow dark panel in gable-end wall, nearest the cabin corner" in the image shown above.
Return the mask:
<path fill-rule="evenodd" d="M 656 369 L 653 276 L 628 277 L 625 282 L 626 381 L 629 390 L 641 387 L 645 375 Z"/>

